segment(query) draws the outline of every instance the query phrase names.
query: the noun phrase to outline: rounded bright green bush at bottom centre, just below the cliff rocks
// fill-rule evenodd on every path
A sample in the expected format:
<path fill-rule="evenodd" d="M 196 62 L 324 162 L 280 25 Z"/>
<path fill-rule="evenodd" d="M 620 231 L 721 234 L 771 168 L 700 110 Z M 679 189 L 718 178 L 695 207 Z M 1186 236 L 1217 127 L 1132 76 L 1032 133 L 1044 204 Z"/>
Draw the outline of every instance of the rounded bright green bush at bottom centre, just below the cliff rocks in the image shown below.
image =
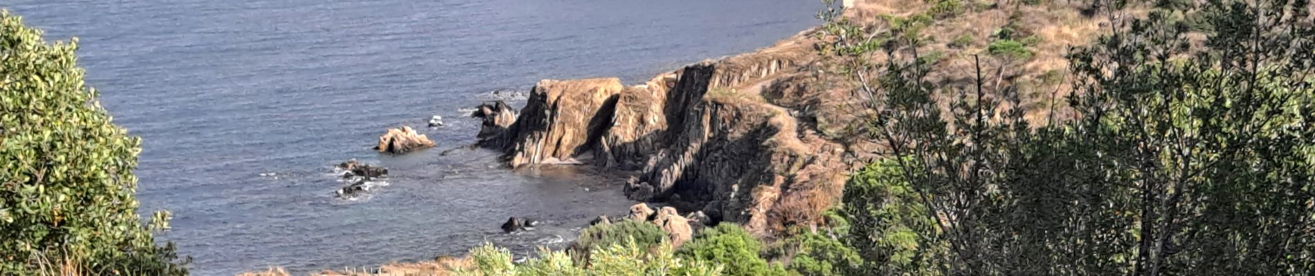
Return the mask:
<path fill-rule="evenodd" d="M 785 275 L 785 268 L 759 255 L 763 245 L 739 225 L 721 224 L 700 232 L 676 255 L 723 264 L 731 276 Z"/>

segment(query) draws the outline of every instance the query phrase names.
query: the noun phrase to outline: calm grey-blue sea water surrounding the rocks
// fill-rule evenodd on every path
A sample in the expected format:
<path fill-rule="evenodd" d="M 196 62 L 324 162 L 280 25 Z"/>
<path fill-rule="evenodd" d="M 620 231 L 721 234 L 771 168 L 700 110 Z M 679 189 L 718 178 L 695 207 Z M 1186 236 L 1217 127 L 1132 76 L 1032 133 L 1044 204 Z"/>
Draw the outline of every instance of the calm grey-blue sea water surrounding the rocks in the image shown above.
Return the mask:
<path fill-rule="evenodd" d="M 563 246 L 594 216 L 633 204 L 618 175 L 506 170 L 496 153 L 463 148 L 479 122 L 460 109 L 540 78 L 634 84 L 771 46 L 815 25 L 821 5 L 5 0 L 0 8 L 47 39 L 79 37 L 87 82 L 143 139 L 142 213 L 174 213 L 160 238 L 195 258 L 193 275 L 233 275 L 422 260 L 483 242 L 517 252 Z M 425 127 L 431 115 L 447 126 Z M 406 156 L 371 149 L 397 126 L 438 147 Z M 331 166 L 351 158 L 387 166 L 388 186 L 335 199 L 345 183 Z M 543 225 L 504 234 L 509 216 Z"/>

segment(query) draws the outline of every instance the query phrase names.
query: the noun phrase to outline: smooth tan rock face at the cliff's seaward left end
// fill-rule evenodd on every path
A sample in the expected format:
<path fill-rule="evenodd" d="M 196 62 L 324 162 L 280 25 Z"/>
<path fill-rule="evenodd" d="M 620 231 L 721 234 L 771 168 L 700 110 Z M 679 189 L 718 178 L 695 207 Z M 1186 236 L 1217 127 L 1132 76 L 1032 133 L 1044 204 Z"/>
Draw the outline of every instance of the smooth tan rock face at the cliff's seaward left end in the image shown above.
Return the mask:
<path fill-rule="evenodd" d="M 508 148 L 512 166 L 567 162 L 588 152 L 611 119 L 621 80 L 543 80 L 515 119 Z"/>

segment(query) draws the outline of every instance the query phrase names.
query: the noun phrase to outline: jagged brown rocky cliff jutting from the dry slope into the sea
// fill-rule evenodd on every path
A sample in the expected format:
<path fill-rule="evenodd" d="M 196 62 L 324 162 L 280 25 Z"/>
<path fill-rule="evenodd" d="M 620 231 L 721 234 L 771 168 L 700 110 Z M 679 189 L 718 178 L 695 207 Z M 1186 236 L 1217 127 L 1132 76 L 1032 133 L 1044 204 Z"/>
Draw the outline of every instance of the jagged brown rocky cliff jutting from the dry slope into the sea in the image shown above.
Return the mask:
<path fill-rule="evenodd" d="M 846 148 L 815 131 L 807 110 L 819 101 L 798 101 L 823 93 L 810 84 L 810 46 L 801 33 L 634 86 L 544 80 L 515 119 L 505 103 L 481 106 L 480 144 L 505 152 L 510 166 L 580 162 L 634 171 L 631 199 L 702 211 L 759 233 L 811 226 L 839 199 L 847 166 Z"/>

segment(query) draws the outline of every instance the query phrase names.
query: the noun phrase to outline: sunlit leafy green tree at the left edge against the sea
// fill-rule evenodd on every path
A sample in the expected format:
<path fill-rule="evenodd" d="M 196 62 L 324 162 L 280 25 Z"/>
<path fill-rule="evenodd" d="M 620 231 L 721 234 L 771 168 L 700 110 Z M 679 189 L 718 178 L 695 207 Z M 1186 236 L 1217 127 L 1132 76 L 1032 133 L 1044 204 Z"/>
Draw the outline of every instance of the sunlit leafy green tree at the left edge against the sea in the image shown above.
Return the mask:
<path fill-rule="evenodd" d="M 185 273 L 137 215 L 141 140 L 83 84 L 76 48 L 0 10 L 0 275 Z"/>

